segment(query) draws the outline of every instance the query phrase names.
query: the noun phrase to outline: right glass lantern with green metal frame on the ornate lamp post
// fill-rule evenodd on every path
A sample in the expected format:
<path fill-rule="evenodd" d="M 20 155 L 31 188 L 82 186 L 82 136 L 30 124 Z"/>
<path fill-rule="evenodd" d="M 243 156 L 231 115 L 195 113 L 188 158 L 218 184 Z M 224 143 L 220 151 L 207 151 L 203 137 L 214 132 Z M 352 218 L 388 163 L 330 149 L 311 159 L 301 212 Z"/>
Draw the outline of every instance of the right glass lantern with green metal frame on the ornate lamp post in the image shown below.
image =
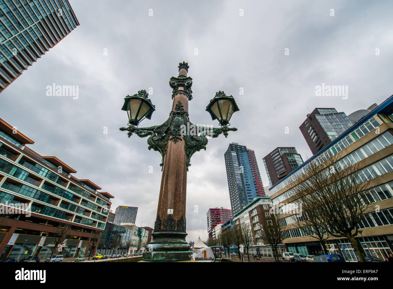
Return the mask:
<path fill-rule="evenodd" d="M 213 120 L 217 119 L 220 125 L 228 125 L 232 114 L 239 111 L 239 107 L 232 95 L 227 96 L 220 91 L 210 101 L 206 111 L 210 113 Z"/>

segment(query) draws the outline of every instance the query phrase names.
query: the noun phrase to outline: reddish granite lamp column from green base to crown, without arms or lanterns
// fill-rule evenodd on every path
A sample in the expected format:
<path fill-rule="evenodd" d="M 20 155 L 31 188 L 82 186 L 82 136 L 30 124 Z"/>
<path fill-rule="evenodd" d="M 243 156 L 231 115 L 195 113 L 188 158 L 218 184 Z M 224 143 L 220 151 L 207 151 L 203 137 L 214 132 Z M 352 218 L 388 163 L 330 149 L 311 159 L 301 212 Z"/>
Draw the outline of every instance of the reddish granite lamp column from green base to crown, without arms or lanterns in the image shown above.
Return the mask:
<path fill-rule="evenodd" d="M 178 77 L 172 77 L 173 128 L 172 137 L 167 143 L 163 163 L 160 196 L 158 197 L 157 217 L 154 223 L 153 241 L 148 252 L 143 254 L 146 261 L 182 261 L 191 259 L 190 246 L 185 241 L 185 196 L 187 188 L 187 156 L 183 135 L 178 135 L 181 125 L 188 116 L 188 101 L 191 97 L 191 77 L 187 77 L 189 66 L 179 66 Z"/>

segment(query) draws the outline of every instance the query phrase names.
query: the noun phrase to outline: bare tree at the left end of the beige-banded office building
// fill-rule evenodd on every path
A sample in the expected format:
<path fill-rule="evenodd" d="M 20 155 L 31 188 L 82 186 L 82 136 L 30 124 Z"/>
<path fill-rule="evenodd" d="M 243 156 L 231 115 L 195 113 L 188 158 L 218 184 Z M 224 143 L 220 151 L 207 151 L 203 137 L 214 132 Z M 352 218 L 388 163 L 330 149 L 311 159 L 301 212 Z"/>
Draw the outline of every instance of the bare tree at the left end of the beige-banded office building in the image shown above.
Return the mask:
<path fill-rule="evenodd" d="M 281 210 L 270 210 L 270 216 L 259 220 L 261 230 L 257 231 L 257 236 L 263 240 L 265 245 L 272 246 L 272 254 L 276 262 L 280 262 L 278 246 L 285 240 L 284 231 L 287 229 L 283 220 Z"/>

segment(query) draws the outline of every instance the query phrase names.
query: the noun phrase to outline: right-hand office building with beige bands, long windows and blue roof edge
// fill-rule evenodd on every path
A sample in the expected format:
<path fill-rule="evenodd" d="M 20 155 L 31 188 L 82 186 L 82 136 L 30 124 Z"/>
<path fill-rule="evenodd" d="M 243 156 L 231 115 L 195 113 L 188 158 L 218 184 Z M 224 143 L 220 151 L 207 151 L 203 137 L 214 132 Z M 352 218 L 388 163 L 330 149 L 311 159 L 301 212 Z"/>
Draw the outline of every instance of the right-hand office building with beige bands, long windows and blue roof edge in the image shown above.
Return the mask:
<path fill-rule="evenodd" d="M 330 155 L 336 155 L 340 166 L 351 163 L 362 172 L 359 179 L 369 181 L 367 199 L 373 208 L 362 219 L 362 235 L 355 238 L 362 244 L 367 256 L 385 260 L 393 252 L 393 95 L 373 109 L 360 121 L 336 137 L 303 165 L 273 185 L 270 198 L 273 207 L 283 210 L 286 239 L 283 243 L 289 252 L 316 254 L 322 251 L 320 243 L 296 227 L 296 203 L 288 200 L 294 195 L 294 182 L 304 181 L 310 172 L 310 163 L 324 167 Z M 344 165 L 343 165 L 344 164 Z M 346 238 L 326 241 L 331 254 L 340 254 L 346 261 L 356 262 L 357 254 Z"/>

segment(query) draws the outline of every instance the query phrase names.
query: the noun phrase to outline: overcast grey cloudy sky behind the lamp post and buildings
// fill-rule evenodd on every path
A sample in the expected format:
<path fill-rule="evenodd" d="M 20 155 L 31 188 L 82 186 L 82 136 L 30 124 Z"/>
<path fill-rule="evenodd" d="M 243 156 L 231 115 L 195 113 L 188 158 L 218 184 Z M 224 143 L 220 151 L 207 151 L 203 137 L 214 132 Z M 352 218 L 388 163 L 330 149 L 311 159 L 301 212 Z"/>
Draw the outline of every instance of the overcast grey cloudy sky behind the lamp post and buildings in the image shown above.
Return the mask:
<path fill-rule="evenodd" d="M 188 62 L 191 122 L 218 126 L 205 108 L 219 90 L 233 95 L 240 108 L 231 119 L 239 130 L 210 139 L 207 150 L 191 158 L 188 241 L 207 239 L 209 208 L 230 208 L 224 163 L 229 143 L 255 151 L 266 186 L 262 158 L 275 147 L 295 146 L 303 159 L 312 155 L 299 130 L 307 107 L 349 114 L 393 93 L 389 1 L 70 4 L 80 26 L 0 94 L 0 117 L 35 141 L 29 147 L 37 153 L 58 157 L 77 170 L 76 177 L 115 196 L 113 210 L 139 207 L 136 224 L 154 227 L 161 156 L 147 150 L 147 138 L 129 139 L 119 131 L 128 122 L 120 109 L 127 94 L 152 88 L 156 111 L 140 126 L 162 124 L 171 109 L 169 79 L 178 75 L 179 62 Z M 52 83 L 79 86 L 79 98 L 47 96 Z M 322 83 L 347 85 L 348 98 L 316 96 Z"/>

